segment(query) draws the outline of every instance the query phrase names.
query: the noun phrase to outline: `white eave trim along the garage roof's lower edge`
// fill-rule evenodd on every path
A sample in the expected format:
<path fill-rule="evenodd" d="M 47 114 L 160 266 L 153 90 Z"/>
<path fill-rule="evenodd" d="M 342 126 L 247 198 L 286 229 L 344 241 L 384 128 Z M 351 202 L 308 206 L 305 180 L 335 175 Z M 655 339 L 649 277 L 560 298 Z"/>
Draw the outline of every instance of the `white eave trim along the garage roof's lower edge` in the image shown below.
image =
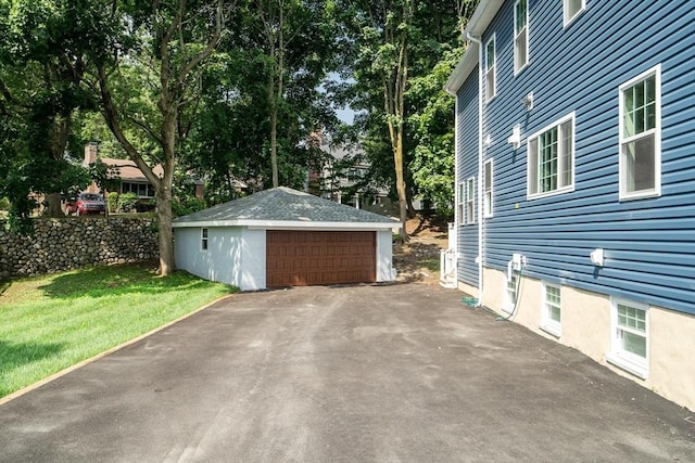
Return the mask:
<path fill-rule="evenodd" d="M 174 222 L 175 229 L 179 228 L 213 228 L 213 227 L 248 227 L 250 229 L 269 230 L 391 230 L 397 228 L 400 222 L 323 222 L 302 220 L 200 220 L 190 222 Z"/>

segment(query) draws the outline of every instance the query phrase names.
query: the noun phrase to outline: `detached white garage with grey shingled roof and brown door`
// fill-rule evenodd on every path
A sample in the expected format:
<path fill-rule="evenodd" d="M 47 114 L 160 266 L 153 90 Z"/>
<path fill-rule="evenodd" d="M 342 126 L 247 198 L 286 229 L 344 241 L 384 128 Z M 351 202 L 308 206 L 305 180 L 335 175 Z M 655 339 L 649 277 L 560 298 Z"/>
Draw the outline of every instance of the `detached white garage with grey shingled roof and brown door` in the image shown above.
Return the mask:
<path fill-rule="evenodd" d="M 397 226 L 281 187 L 175 219 L 176 263 L 243 291 L 392 281 Z"/>

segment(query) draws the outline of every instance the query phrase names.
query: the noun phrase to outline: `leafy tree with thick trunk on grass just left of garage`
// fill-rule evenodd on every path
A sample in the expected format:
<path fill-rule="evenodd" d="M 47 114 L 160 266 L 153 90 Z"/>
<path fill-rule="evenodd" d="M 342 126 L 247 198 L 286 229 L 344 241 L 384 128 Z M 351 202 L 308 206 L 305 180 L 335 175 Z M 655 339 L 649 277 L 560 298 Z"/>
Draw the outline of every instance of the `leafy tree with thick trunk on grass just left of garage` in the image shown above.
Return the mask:
<path fill-rule="evenodd" d="M 176 268 L 173 179 L 201 99 L 201 80 L 235 7 L 223 0 L 108 2 L 91 10 L 108 47 L 93 51 L 90 87 L 106 125 L 156 195 L 160 268 Z M 137 132 L 149 143 L 138 143 Z M 143 146 L 148 146 L 144 150 Z M 154 173 L 161 164 L 163 177 Z"/>

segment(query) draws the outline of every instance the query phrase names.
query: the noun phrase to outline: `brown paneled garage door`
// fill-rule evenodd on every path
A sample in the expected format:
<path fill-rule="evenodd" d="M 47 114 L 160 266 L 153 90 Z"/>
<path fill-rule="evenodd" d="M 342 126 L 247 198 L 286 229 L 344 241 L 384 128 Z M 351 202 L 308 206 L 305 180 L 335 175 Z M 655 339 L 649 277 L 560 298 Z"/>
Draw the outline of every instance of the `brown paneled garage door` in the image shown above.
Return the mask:
<path fill-rule="evenodd" d="M 266 232 L 266 285 L 371 283 L 376 281 L 376 233 Z"/>

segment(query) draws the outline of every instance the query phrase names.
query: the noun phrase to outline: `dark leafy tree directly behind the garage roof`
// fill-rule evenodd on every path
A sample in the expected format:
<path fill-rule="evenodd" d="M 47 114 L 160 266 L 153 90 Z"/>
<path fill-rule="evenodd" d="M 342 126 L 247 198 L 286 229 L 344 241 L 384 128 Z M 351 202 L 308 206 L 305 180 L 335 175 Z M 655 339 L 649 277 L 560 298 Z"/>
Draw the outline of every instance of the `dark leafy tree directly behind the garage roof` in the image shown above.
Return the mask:
<path fill-rule="evenodd" d="M 317 133 L 338 124 L 319 89 L 336 67 L 340 30 L 326 0 L 252 1 L 231 21 L 203 78 L 200 117 L 187 141 L 188 170 L 206 180 L 213 202 L 251 190 L 304 188 L 326 154 Z"/>

